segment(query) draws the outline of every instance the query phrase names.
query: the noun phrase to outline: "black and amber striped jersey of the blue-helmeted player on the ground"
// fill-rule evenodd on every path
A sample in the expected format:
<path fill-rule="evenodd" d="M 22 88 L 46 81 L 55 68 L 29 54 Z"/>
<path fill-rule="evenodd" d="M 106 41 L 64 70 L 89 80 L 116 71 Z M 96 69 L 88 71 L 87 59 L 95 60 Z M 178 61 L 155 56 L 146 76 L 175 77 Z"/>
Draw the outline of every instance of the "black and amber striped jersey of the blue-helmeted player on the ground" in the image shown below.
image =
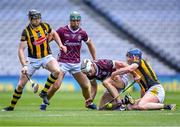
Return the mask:
<path fill-rule="evenodd" d="M 133 63 L 138 64 L 138 68 L 135 71 L 141 76 L 139 84 L 144 92 L 147 91 L 151 86 L 159 84 L 155 72 L 145 60 L 136 60 Z"/>

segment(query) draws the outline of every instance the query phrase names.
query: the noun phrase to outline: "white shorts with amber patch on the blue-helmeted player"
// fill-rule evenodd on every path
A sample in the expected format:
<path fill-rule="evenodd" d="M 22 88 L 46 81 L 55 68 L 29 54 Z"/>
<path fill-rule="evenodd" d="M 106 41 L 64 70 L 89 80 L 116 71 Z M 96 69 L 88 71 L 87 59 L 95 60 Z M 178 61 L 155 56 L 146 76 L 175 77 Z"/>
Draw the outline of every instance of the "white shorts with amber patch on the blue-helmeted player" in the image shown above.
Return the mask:
<path fill-rule="evenodd" d="M 165 91 L 162 85 L 158 84 L 158 85 L 152 86 L 148 89 L 148 91 L 146 91 L 146 93 L 155 95 L 158 98 L 160 103 L 164 102 Z"/>

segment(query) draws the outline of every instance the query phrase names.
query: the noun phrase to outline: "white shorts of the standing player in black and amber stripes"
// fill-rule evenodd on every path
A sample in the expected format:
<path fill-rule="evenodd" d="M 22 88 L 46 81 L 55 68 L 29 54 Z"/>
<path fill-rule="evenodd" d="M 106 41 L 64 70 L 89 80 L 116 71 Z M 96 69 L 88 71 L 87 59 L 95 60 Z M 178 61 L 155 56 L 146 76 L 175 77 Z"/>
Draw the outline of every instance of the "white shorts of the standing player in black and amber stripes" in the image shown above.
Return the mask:
<path fill-rule="evenodd" d="M 29 76 L 32 76 L 35 73 L 35 71 L 38 70 L 40 67 L 46 68 L 47 63 L 49 63 L 51 60 L 56 60 L 56 59 L 52 55 L 48 55 L 41 59 L 28 57 L 28 61 L 29 61 L 28 74 L 29 74 Z"/>

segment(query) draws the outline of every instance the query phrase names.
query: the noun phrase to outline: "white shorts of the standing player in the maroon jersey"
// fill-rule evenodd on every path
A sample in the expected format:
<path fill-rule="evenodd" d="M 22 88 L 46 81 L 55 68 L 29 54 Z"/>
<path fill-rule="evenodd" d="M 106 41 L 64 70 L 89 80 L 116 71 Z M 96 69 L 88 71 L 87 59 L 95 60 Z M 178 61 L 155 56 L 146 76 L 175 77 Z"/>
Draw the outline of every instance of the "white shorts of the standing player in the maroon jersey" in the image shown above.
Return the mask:
<path fill-rule="evenodd" d="M 81 72 L 81 63 L 62 63 L 59 62 L 60 69 L 66 73 L 75 74 Z"/>

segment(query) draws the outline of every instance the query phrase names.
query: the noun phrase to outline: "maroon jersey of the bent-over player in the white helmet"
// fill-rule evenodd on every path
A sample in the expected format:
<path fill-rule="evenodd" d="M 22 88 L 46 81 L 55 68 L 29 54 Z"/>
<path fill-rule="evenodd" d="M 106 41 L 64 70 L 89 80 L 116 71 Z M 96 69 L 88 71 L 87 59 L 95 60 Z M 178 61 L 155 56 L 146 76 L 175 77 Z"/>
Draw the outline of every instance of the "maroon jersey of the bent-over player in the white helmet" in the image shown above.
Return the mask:
<path fill-rule="evenodd" d="M 89 79 L 104 80 L 111 75 L 115 69 L 113 68 L 113 61 L 108 59 L 99 59 L 94 61 L 96 64 L 96 75 L 88 77 Z"/>

